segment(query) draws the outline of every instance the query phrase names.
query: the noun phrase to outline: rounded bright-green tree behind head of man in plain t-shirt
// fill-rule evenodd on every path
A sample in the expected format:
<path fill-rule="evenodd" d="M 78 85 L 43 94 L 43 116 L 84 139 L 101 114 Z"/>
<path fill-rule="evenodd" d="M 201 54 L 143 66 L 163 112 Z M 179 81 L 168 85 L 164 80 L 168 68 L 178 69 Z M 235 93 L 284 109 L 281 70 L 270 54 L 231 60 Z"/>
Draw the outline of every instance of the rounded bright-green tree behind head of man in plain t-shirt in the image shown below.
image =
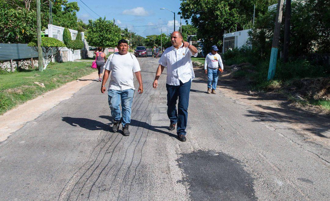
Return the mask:
<path fill-rule="evenodd" d="M 88 29 L 86 32 L 86 41 L 88 45 L 94 47 L 115 47 L 121 39 L 121 31 L 113 21 L 100 17 L 97 20 L 88 21 Z"/>

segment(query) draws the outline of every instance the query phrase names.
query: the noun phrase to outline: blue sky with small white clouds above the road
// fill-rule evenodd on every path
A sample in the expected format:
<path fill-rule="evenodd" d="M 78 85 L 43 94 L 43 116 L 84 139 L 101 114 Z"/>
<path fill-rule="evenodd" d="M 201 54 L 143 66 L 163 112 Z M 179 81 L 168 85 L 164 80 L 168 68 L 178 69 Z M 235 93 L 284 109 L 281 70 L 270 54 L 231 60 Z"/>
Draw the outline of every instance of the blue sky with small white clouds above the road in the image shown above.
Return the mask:
<path fill-rule="evenodd" d="M 69 0 L 69 2 L 76 0 Z M 119 1 L 119 0 L 82 0 L 91 10 L 101 17 L 109 20 L 115 18 L 116 24 L 121 27 L 127 27 L 129 30 L 146 37 L 147 35 L 171 33 L 174 29 L 174 14 L 168 10 L 160 10 L 167 8 L 176 14 L 180 11 L 180 0 L 165 1 Z M 99 16 L 89 10 L 80 0 L 77 0 L 80 11 L 77 13 L 78 18 L 87 22 L 88 19 L 95 19 Z M 176 30 L 180 26 L 180 15 L 175 16 Z M 182 24 L 185 21 L 182 19 Z"/>

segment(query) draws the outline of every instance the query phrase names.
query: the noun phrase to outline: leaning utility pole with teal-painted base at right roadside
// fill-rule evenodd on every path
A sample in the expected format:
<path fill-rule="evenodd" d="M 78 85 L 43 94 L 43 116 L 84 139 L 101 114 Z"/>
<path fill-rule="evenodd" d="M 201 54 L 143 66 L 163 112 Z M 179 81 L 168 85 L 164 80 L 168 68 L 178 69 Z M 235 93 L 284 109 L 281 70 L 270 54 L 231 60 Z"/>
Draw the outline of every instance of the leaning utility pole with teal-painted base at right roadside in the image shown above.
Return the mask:
<path fill-rule="evenodd" d="M 276 19 L 275 19 L 275 29 L 274 29 L 274 36 L 273 36 L 272 51 L 270 54 L 267 80 L 271 80 L 275 76 L 277 52 L 279 50 L 279 37 L 280 37 L 280 31 L 281 31 L 282 12 L 283 12 L 283 0 L 279 0 L 279 2 L 277 4 L 277 14 L 276 14 Z"/>

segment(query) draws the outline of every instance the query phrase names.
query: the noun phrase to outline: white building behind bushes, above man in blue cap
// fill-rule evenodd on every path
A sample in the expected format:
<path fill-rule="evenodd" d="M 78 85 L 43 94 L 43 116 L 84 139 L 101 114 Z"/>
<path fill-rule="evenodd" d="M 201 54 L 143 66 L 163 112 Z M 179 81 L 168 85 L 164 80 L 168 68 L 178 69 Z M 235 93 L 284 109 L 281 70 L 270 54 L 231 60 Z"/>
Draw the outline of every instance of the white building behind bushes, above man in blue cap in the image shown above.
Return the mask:
<path fill-rule="evenodd" d="M 225 53 L 229 48 L 240 48 L 248 42 L 248 32 L 251 29 L 235 31 L 223 35 L 222 53 Z"/>

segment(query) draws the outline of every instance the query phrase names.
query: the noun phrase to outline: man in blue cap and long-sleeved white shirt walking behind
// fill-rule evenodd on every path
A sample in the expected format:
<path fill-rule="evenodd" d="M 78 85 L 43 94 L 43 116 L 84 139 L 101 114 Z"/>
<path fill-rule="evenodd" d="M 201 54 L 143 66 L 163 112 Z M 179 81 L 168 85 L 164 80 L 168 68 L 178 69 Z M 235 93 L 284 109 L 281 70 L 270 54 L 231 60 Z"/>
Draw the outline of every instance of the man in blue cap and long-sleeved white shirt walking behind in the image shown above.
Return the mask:
<path fill-rule="evenodd" d="M 212 51 L 206 55 L 204 62 L 205 74 L 208 74 L 207 81 L 207 93 L 215 93 L 216 84 L 218 83 L 219 72 L 223 72 L 223 64 L 221 56 L 217 53 L 218 48 L 214 45 L 212 46 Z M 220 65 L 220 68 L 218 68 Z M 209 70 L 207 70 L 209 67 Z M 212 91 L 211 91 L 212 88 Z"/>

